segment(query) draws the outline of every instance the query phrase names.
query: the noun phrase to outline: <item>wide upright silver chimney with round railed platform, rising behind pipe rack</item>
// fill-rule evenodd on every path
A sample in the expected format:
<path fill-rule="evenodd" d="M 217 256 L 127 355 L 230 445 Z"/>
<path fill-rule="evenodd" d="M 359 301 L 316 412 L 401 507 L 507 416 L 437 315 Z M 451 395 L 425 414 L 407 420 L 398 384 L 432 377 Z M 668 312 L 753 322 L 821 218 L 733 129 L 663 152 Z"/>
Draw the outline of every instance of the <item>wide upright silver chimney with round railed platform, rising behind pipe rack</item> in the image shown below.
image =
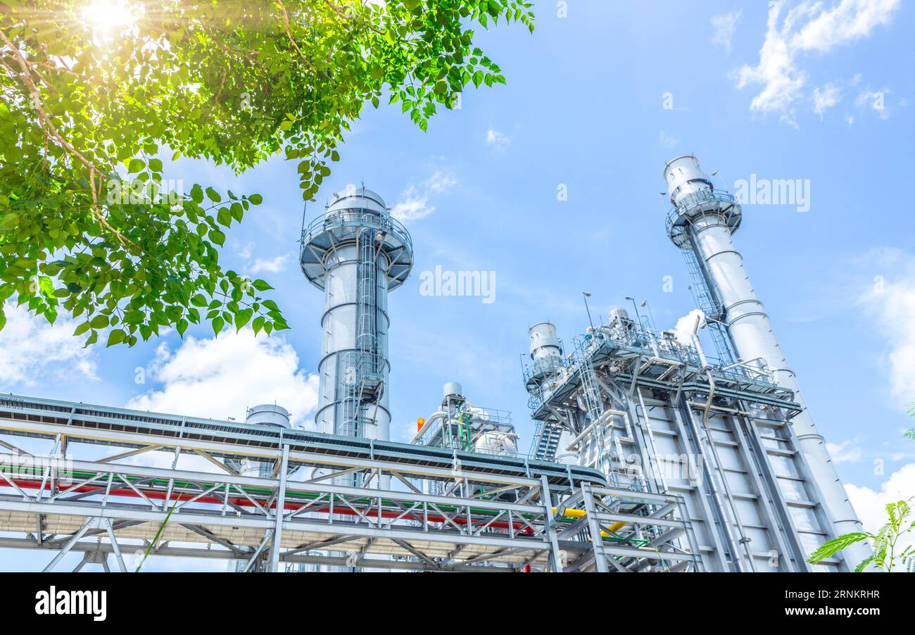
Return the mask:
<path fill-rule="evenodd" d="M 376 192 L 350 186 L 305 231 L 302 271 L 324 291 L 318 430 L 388 439 L 388 292 L 413 265 L 410 235 Z"/>

